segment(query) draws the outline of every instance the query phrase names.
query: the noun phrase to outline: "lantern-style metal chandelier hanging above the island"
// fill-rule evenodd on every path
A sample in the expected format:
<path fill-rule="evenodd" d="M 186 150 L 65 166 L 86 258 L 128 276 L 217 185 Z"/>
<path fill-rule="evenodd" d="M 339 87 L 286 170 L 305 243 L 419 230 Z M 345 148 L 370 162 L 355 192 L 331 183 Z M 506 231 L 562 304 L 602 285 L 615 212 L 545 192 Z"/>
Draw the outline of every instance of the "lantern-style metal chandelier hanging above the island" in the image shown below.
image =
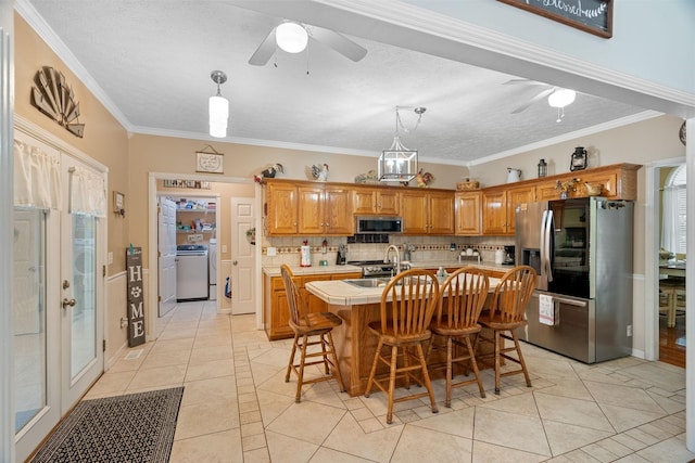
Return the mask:
<path fill-rule="evenodd" d="M 408 150 L 401 143 L 401 136 L 399 133 L 399 127 L 405 132 L 414 132 L 420 125 L 422 113 L 426 107 L 414 107 L 413 111 L 418 115 L 417 123 L 412 130 L 407 130 L 401 121 L 401 115 L 399 110 L 403 107 L 395 107 L 395 134 L 393 137 L 393 143 L 388 150 L 383 150 L 379 156 L 379 180 L 382 182 L 409 182 L 417 175 L 417 150 Z"/>

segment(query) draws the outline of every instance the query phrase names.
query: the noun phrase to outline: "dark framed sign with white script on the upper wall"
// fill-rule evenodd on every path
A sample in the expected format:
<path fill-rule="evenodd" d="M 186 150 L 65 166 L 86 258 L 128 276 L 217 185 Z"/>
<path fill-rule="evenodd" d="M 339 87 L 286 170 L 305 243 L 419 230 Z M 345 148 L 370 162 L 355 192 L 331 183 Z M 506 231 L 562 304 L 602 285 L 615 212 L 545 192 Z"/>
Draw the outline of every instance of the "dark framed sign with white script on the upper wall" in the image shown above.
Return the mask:
<path fill-rule="evenodd" d="M 609 39 L 612 37 L 612 0 L 498 0 Z"/>

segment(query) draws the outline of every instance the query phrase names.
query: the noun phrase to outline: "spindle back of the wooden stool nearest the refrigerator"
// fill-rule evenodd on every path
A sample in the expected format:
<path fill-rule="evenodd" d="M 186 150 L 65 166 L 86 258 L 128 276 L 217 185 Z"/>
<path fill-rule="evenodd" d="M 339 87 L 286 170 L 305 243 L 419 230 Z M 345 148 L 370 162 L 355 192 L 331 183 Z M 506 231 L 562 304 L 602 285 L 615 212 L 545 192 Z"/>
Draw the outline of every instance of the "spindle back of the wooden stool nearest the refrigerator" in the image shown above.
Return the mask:
<path fill-rule="evenodd" d="M 505 273 L 495 288 L 490 318 L 500 317 L 503 323 L 523 321 L 535 290 L 535 270 L 530 266 L 517 266 Z"/>

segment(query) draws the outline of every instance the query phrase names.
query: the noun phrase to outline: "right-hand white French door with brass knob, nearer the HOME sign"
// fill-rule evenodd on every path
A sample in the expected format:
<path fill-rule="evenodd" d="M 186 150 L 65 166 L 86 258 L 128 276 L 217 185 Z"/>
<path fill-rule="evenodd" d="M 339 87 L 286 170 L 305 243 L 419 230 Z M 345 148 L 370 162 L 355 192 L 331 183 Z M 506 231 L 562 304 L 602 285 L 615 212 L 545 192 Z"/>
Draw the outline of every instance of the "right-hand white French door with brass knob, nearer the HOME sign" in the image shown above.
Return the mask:
<path fill-rule="evenodd" d="M 62 156 L 63 210 L 61 214 L 61 297 L 50 300 L 61 308 L 63 413 L 103 372 L 103 219 L 71 214 L 75 169 L 86 164 Z M 98 173 L 99 172 L 96 172 Z"/>

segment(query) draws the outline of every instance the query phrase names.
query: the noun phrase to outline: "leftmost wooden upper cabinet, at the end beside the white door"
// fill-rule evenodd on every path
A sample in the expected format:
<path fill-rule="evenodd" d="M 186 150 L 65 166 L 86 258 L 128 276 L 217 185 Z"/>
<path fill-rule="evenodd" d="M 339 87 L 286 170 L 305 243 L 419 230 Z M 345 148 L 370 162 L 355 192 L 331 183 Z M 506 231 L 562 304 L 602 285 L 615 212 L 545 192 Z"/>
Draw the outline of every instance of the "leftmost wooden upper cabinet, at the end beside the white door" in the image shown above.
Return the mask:
<path fill-rule="evenodd" d="M 268 182 L 266 187 L 266 234 L 298 233 L 298 189 L 290 183 Z"/>

